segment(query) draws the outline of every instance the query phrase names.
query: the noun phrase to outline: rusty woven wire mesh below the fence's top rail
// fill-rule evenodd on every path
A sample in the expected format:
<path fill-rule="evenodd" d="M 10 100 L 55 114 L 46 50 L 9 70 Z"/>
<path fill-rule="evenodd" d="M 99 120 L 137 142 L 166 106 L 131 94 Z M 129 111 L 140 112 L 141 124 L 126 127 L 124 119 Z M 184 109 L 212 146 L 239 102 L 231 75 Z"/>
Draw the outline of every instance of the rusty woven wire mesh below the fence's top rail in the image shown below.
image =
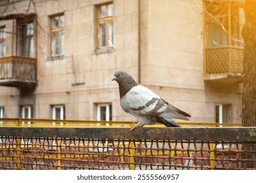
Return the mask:
<path fill-rule="evenodd" d="M 256 169 L 255 144 L 0 136 L 0 169 Z"/>

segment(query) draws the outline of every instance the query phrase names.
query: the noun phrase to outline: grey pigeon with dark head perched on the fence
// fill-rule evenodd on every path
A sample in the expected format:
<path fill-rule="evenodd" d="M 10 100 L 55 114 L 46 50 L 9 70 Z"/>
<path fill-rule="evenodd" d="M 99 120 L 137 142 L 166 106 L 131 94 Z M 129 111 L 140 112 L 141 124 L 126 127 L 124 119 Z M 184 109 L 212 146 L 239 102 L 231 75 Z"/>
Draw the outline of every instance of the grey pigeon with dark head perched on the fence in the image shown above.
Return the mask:
<path fill-rule="evenodd" d="M 131 130 L 156 122 L 167 127 L 180 127 L 173 118 L 189 120 L 186 112 L 169 104 L 152 90 L 138 84 L 125 71 L 116 71 L 114 78 L 119 85 L 120 105 L 123 110 L 137 118 L 138 124 Z"/>

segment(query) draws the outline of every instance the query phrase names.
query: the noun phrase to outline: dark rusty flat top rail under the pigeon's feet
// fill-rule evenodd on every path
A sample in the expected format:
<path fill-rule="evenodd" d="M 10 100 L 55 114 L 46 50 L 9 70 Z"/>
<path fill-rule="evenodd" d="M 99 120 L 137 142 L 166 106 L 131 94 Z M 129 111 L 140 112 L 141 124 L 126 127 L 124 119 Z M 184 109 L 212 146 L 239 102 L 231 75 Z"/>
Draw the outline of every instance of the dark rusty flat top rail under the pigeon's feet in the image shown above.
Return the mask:
<path fill-rule="evenodd" d="M 0 137 L 256 142 L 256 127 L 0 127 Z"/>

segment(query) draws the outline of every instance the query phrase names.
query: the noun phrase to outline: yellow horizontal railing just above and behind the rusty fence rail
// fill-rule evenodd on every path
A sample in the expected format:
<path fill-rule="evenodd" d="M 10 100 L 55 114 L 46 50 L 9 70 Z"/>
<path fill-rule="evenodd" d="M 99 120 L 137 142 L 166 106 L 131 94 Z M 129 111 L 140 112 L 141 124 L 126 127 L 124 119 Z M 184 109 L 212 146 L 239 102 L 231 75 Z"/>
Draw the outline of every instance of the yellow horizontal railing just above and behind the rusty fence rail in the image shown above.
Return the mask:
<path fill-rule="evenodd" d="M 186 127 L 236 127 L 242 124 L 219 124 L 211 122 L 184 122 L 177 121 L 179 125 Z M 22 127 L 131 127 L 137 122 L 125 121 L 94 121 L 94 120 L 52 120 L 37 118 L 1 118 L 0 126 L 22 126 Z M 164 127 L 162 124 L 145 125 L 146 127 Z"/>

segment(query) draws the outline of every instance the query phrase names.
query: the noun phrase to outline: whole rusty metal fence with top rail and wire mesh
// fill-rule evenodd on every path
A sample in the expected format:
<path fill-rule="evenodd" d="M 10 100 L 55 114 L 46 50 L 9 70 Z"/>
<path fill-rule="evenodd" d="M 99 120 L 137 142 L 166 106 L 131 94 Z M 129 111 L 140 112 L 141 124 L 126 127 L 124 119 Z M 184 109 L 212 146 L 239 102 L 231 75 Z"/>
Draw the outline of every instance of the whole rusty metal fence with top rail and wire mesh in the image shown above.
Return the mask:
<path fill-rule="evenodd" d="M 0 127 L 0 169 L 256 169 L 256 127 Z"/>

